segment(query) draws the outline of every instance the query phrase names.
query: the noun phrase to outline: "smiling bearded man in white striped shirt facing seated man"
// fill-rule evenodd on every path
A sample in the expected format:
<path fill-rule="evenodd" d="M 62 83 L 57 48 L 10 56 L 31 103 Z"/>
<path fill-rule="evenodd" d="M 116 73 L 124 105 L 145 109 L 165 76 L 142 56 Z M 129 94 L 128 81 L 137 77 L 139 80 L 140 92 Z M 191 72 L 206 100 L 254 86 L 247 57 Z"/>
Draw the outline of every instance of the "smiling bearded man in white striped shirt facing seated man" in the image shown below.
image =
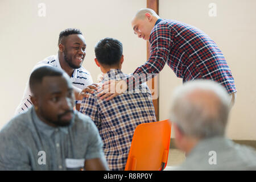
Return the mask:
<path fill-rule="evenodd" d="M 82 67 L 86 55 L 84 36 L 82 36 L 82 32 L 79 29 L 67 28 L 60 32 L 58 46 L 57 55 L 49 56 L 40 61 L 35 65 L 34 69 L 43 65 L 51 65 L 52 67 L 63 69 L 71 79 L 77 100 L 77 109 L 79 109 L 80 100 L 82 100 L 84 93 L 91 92 L 91 88 L 96 88 L 90 73 Z M 30 97 L 31 90 L 27 83 L 23 99 L 16 109 L 16 114 L 26 111 L 32 106 Z"/>

